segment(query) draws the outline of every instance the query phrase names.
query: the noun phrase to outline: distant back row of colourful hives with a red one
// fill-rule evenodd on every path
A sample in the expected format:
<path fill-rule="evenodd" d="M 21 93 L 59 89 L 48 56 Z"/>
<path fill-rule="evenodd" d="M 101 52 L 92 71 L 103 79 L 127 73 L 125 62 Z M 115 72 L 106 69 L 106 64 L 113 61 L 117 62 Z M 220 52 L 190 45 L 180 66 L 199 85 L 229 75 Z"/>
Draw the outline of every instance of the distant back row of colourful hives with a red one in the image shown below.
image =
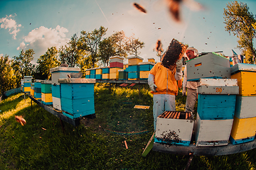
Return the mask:
<path fill-rule="evenodd" d="M 147 79 L 149 71 L 154 67 L 154 58 L 142 62 L 142 57 L 127 57 L 128 64 L 124 64 L 124 57 L 110 57 L 110 67 L 97 67 L 86 70 L 86 79 L 97 80 L 139 80 Z"/>

